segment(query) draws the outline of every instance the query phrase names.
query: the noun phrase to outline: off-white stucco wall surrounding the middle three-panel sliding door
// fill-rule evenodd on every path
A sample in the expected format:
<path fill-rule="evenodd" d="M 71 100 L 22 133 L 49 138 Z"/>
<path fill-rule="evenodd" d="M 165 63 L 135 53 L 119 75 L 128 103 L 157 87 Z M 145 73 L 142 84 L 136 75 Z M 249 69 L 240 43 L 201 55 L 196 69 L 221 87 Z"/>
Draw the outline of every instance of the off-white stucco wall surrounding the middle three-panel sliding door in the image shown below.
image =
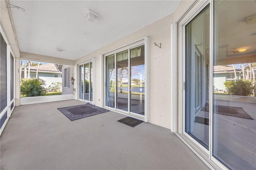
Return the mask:
<path fill-rule="evenodd" d="M 122 39 L 102 47 L 78 60 L 76 64 L 96 57 L 96 67 L 100 66 L 100 55 L 108 51 L 150 36 L 150 123 L 170 129 L 170 25 L 172 15 L 158 20 Z M 161 43 L 162 48 L 154 42 Z M 96 106 L 100 106 L 100 69 L 96 69 Z"/>

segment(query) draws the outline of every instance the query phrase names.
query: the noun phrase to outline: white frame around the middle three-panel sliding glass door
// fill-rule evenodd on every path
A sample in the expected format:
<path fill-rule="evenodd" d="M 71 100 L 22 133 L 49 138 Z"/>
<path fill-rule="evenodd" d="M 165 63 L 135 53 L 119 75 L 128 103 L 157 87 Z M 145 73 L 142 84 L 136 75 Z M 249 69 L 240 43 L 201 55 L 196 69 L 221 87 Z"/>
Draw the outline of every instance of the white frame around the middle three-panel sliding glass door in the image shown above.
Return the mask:
<path fill-rule="evenodd" d="M 106 100 L 106 98 L 105 98 L 105 96 L 106 96 L 106 56 L 115 54 L 115 68 L 116 68 L 116 53 L 119 53 L 119 52 L 122 52 L 125 50 L 128 50 L 128 53 L 130 53 L 130 49 L 133 49 L 133 48 L 136 48 L 136 47 L 139 47 L 142 45 L 144 45 L 144 49 L 145 49 L 145 57 L 144 57 L 144 64 L 145 64 L 145 67 L 144 67 L 144 69 L 145 69 L 144 70 L 144 72 L 145 72 L 144 116 L 129 112 L 129 109 L 128 109 L 128 111 L 123 111 L 121 109 L 114 109 L 112 107 L 108 107 L 108 106 L 106 106 L 106 101 L 105 101 Z M 134 117 L 136 119 L 141 119 L 145 122 L 149 122 L 150 121 L 149 120 L 149 115 L 150 115 L 150 108 L 149 108 L 149 92 L 150 92 L 149 36 L 144 37 L 142 39 L 138 39 L 132 43 L 126 44 L 117 49 L 111 50 L 107 53 L 100 55 L 100 57 L 101 57 L 102 68 L 104 68 L 103 70 L 101 70 L 101 74 L 103 74 L 103 75 L 101 75 L 101 77 L 103 77 L 103 80 L 101 80 L 103 82 L 102 86 L 101 86 L 102 91 L 103 91 L 103 95 L 101 96 L 101 100 L 102 100 L 101 106 L 105 107 L 106 109 L 115 111 L 117 113 L 120 113 L 123 115 L 128 115 L 128 116 Z M 128 62 L 130 64 L 130 59 L 128 59 Z M 130 70 L 128 70 L 128 74 L 130 75 Z M 115 76 L 115 79 L 116 78 L 117 77 Z M 130 83 L 128 83 L 128 88 L 129 87 L 130 87 Z M 117 88 L 117 84 L 116 84 L 116 88 Z M 116 92 L 115 92 L 115 96 L 116 96 Z M 116 97 L 115 97 L 115 104 L 116 104 Z M 128 105 L 129 104 L 130 104 L 130 96 L 128 95 Z"/>

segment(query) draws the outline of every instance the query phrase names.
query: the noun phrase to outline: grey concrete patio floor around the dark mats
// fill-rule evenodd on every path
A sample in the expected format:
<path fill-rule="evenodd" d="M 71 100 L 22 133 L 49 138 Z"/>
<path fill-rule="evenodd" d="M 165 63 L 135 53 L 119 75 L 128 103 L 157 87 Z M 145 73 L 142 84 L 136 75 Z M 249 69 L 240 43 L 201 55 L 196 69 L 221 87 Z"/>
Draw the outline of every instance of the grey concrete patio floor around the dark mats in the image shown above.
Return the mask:
<path fill-rule="evenodd" d="M 129 127 L 112 111 L 70 121 L 58 107 L 15 107 L 0 138 L 1 169 L 209 169 L 170 129 Z"/>

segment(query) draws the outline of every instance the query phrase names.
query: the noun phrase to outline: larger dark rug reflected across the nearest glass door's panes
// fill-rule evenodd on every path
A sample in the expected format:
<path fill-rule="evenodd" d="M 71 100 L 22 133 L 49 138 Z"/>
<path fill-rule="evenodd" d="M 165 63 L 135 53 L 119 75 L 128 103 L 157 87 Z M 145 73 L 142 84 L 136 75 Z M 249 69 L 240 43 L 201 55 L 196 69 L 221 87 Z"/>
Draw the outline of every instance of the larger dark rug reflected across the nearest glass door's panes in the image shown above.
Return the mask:
<path fill-rule="evenodd" d="M 250 115 L 248 115 L 242 107 L 231 107 L 231 106 L 220 106 L 214 105 L 214 113 L 234 116 L 234 117 L 241 117 L 244 119 L 252 119 Z M 201 111 L 208 111 L 209 112 L 209 104 L 206 104 L 205 107 L 202 107 Z"/>

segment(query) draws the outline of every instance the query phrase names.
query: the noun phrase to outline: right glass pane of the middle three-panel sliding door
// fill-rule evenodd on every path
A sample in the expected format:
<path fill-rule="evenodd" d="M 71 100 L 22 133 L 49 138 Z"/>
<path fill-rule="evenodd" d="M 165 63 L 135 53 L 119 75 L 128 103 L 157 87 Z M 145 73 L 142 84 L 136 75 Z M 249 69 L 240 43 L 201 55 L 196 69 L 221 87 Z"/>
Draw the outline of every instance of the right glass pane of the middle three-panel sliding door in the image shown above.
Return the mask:
<path fill-rule="evenodd" d="M 144 45 L 131 49 L 130 111 L 144 115 L 145 62 Z"/>

